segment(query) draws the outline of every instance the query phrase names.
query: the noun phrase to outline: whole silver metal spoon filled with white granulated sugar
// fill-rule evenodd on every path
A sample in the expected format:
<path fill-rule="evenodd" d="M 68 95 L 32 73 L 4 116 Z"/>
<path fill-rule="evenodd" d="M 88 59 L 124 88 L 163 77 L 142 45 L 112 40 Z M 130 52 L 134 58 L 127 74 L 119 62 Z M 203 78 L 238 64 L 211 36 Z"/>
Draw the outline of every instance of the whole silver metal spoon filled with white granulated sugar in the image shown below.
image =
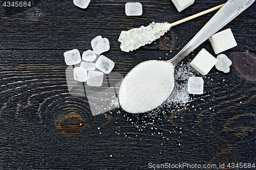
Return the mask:
<path fill-rule="evenodd" d="M 125 76 L 119 89 L 122 109 L 129 113 L 144 113 L 164 103 L 174 89 L 176 64 L 254 1 L 228 0 L 174 58 L 168 61 L 148 60 L 136 65 Z"/>

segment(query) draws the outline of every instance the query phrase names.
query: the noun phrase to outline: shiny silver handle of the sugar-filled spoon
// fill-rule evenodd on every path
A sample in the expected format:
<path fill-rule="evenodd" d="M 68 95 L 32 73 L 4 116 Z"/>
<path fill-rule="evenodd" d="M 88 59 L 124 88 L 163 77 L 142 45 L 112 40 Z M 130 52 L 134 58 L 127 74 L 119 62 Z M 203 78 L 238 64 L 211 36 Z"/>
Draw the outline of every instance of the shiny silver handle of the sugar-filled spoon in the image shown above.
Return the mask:
<path fill-rule="evenodd" d="M 228 0 L 224 6 L 206 23 L 206 25 L 192 38 L 182 50 L 172 59 L 168 60 L 174 66 L 195 50 L 205 40 L 210 38 L 233 18 L 247 9 L 255 0 Z"/>

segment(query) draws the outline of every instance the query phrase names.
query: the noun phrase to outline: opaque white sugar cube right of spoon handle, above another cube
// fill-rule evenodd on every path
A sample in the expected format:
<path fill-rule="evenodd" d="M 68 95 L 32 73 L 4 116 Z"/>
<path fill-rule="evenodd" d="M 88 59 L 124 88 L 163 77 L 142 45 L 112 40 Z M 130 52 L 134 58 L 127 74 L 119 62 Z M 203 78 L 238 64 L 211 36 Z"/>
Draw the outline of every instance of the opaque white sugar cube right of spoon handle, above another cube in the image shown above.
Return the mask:
<path fill-rule="evenodd" d="M 212 48 L 214 48 L 215 54 L 219 54 L 238 45 L 234 39 L 231 29 L 226 29 L 215 35 L 212 35 L 209 40 Z"/>

